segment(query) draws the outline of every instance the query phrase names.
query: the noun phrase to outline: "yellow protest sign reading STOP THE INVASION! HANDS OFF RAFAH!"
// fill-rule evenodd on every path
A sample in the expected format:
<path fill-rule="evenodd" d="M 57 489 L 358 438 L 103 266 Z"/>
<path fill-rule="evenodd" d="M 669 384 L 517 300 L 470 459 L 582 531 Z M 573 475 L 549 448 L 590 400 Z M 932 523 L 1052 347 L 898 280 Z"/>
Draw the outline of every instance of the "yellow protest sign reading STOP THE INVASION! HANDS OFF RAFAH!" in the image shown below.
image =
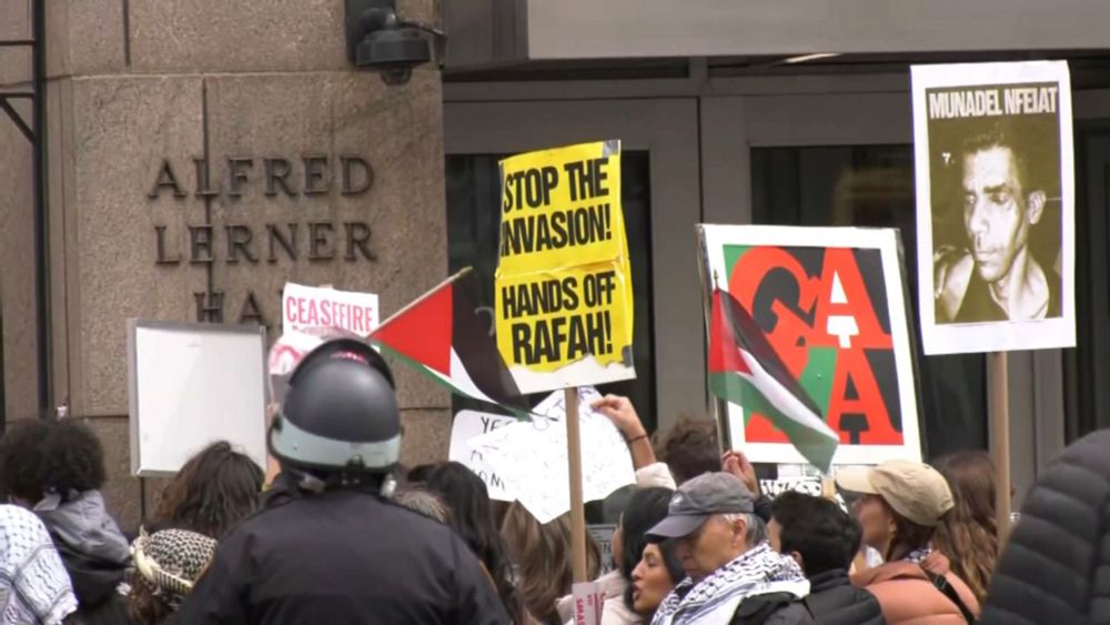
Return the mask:
<path fill-rule="evenodd" d="M 620 142 L 501 161 L 497 347 L 521 391 L 636 376 Z"/>

